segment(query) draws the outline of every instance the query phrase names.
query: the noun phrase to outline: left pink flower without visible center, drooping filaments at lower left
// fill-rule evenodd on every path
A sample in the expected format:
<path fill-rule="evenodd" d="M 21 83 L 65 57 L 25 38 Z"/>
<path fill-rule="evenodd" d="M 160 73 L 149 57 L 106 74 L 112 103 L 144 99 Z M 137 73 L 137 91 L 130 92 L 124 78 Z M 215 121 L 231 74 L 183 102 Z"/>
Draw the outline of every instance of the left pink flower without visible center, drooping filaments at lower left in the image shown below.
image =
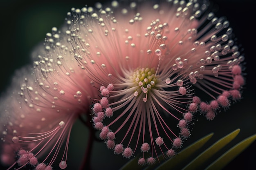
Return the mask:
<path fill-rule="evenodd" d="M 59 167 L 67 167 L 72 125 L 81 114 L 90 114 L 91 97 L 97 96 L 74 57 L 76 48 L 54 27 L 36 50 L 33 68 L 16 73 L 0 106 L 0 154 L 5 165 L 14 162 L 12 166 L 48 170 L 59 156 Z"/>

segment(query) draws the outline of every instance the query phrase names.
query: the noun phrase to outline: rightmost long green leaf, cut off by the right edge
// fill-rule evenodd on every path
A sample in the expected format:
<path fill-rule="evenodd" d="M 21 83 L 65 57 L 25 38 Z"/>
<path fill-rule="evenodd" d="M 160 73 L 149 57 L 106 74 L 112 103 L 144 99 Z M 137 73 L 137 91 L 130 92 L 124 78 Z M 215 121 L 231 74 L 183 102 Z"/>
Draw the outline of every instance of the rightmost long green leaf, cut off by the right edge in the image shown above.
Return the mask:
<path fill-rule="evenodd" d="M 211 165 L 209 165 L 206 170 L 220 170 L 224 168 L 230 161 L 232 161 L 236 156 L 243 152 L 250 144 L 256 140 L 256 134 L 252 135 L 240 143 L 233 146 L 227 152 L 225 152 L 221 157 L 216 159 Z"/>

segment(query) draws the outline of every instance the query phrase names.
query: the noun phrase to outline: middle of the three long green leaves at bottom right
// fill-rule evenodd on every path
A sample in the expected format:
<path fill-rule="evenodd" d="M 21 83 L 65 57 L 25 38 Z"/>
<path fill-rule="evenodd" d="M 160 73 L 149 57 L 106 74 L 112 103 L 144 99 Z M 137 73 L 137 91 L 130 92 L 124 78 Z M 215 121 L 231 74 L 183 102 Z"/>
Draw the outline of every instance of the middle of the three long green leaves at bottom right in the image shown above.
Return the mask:
<path fill-rule="evenodd" d="M 234 130 L 233 132 L 229 133 L 225 137 L 222 137 L 220 140 L 218 140 L 212 146 L 210 146 L 207 150 L 205 150 L 200 155 L 198 155 L 198 157 L 196 157 L 193 161 L 191 161 L 182 170 L 199 169 L 200 166 L 203 163 L 205 163 L 210 157 L 212 157 L 216 152 L 221 150 L 230 141 L 232 141 L 238 135 L 239 132 L 240 132 L 240 129 L 237 129 L 237 130 Z"/>

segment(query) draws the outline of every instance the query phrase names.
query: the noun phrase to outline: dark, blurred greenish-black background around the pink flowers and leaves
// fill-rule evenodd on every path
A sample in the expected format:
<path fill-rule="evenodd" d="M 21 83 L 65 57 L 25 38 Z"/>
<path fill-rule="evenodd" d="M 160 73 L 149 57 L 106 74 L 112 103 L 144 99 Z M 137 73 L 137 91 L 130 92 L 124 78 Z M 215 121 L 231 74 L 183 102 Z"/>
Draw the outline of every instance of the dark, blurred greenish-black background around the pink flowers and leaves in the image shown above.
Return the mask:
<path fill-rule="evenodd" d="M 103 2 L 103 1 L 100 1 Z M 244 47 L 246 85 L 243 91 L 243 99 L 231 105 L 227 111 L 222 110 L 214 121 L 207 121 L 205 117 L 198 116 L 193 125 L 190 139 L 184 143 L 184 147 L 210 132 L 215 135 L 207 143 L 209 147 L 229 132 L 240 128 L 239 135 L 224 149 L 231 148 L 234 144 L 256 133 L 256 32 L 253 26 L 255 22 L 254 0 L 213 0 L 218 5 L 217 16 L 225 15 L 231 23 L 233 32 L 238 38 L 238 44 Z M 31 61 L 30 53 L 33 48 L 42 43 L 47 32 L 51 32 L 53 26 L 59 28 L 65 19 L 66 13 L 71 7 L 82 8 L 85 4 L 92 6 L 94 1 L 86 0 L 0 0 L 0 92 L 4 92 L 9 86 L 14 71 Z M 77 121 L 72 129 L 67 160 L 67 170 L 77 169 L 83 158 L 83 151 L 87 144 L 88 131 Z M 205 148 L 207 148 L 205 146 Z M 223 151 L 224 152 L 224 151 Z M 218 152 L 216 157 L 223 152 Z M 229 163 L 225 170 L 229 169 L 256 169 L 256 142 Z M 92 170 L 118 169 L 128 159 L 116 156 L 108 150 L 103 142 L 95 142 L 91 155 Z M 72 168 L 71 168 L 72 167 Z M 3 167 L 0 166 L 0 169 Z M 4 169 L 4 168 L 3 168 Z"/>

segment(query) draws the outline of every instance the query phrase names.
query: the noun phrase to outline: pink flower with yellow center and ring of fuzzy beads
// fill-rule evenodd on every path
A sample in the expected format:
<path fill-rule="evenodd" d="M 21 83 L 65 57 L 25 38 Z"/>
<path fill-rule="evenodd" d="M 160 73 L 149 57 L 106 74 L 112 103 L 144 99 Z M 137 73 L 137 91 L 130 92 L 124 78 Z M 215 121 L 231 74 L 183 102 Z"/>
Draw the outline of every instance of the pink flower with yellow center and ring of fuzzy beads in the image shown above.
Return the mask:
<path fill-rule="evenodd" d="M 244 57 L 230 39 L 229 22 L 207 6 L 113 1 L 99 11 L 76 9 L 67 20 L 71 44 L 84 43 L 76 58 L 102 96 L 92 107 L 94 127 L 109 149 L 115 144 L 115 154 L 142 151 L 139 165 L 154 164 L 161 152 L 172 157 L 189 137 L 195 113 L 212 120 L 240 99 Z M 111 145 L 108 132 L 115 134 Z"/>

